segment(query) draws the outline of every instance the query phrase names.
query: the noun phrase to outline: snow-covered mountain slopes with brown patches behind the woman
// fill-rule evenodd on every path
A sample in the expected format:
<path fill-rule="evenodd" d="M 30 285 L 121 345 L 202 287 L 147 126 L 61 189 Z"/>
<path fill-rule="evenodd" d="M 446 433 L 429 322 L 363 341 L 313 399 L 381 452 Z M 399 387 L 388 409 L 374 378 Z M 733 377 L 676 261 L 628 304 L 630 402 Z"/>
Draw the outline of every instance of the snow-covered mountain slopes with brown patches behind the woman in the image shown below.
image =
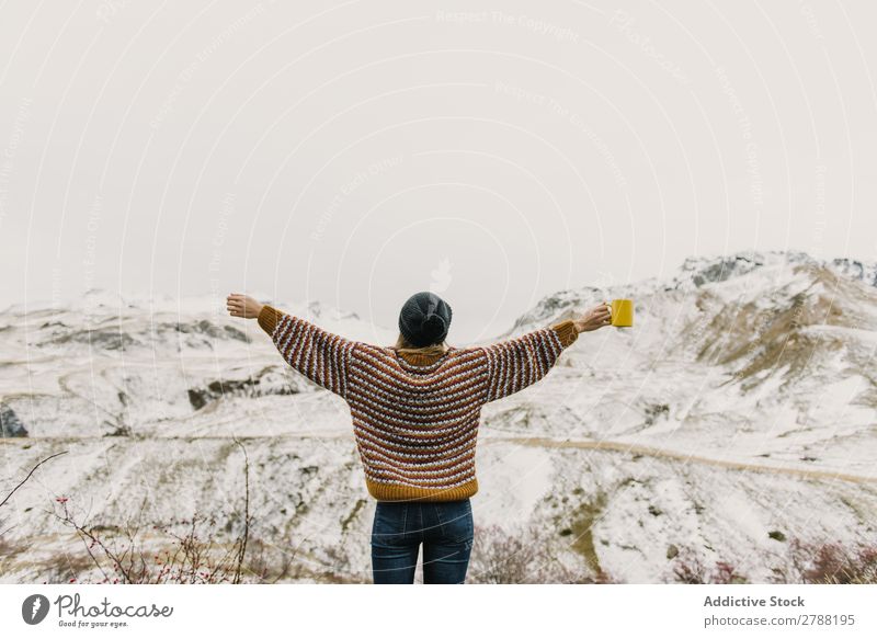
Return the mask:
<path fill-rule="evenodd" d="M 764 582 L 781 538 L 877 537 L 877 264 L 691 258 L 670 277 L 560 290 L 498 339 L 618 297 L 635 300 L 634 328 L 580 334 L 545 379 L 485 407 L 477 533 L 528 523 L 559 561 L 625 582 L 664 581 L 680 547 Z M 320 304 L 272 304 L 352 339 L 396 338 Z M 234 436 L 250 533 L 308 566 L 291 580 L 369 581 L 374 501 L 346 406 L 224 298 L 91 290 L 75 307 L 7 308 L 0 337 L 0 497 L 67 451 L 0 510 L 19 548 L 0 581 L 58 580 L 58 557 L 82 555 L 47 512 L 57 497 L 104 525 L 215 512 L 234 536 Z"/>

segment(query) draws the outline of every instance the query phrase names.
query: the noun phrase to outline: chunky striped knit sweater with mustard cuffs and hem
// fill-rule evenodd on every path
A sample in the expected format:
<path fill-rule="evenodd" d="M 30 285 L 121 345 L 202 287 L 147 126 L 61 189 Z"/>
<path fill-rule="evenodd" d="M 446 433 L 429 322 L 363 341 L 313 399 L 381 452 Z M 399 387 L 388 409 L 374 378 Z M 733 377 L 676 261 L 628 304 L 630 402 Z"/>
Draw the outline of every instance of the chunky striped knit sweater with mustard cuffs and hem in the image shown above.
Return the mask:
<path fill-rule="evenodd" d="M 259 324 L 293 368 L 350 406 L 365 483 L 379 501 L 475 494 L 481 406 L 543 378 L 579 335 L 568 319 L 425 355 L 348 340 L 267 305 Z"/>

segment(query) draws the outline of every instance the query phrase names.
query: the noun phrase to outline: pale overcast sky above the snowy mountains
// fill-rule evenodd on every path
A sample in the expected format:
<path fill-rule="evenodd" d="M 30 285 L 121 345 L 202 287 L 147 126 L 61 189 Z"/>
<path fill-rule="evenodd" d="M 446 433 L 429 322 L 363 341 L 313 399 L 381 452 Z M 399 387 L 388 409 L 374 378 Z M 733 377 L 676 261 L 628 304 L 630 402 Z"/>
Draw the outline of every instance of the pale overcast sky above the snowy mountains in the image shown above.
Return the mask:
<path fill-rule="evenodd" d="M 465 343 L 688 255 L 877 259 L 874 2 L 615 4 L 5 2 L 0 307 L 433 289 Z"/>

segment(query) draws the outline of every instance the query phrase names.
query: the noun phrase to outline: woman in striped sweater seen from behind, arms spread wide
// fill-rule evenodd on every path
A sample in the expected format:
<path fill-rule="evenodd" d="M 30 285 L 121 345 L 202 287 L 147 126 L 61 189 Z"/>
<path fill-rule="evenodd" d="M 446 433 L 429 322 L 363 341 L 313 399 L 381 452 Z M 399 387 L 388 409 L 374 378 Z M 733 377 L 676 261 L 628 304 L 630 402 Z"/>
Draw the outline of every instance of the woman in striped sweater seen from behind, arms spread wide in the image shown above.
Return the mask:
<path fill-rule="evenodd" d="M 255 318 L 292 367 L 350 406 L 366 488 L 377 499 L 375 583 L 413 583 L 421 544 L 424 583 L 465 581 L 481 407 L 543 378 L 580 332 L 608 326 L 611 310 L 604 303 L 516 339 L 454 348 L 445 342 L 451 306 L 424 292 L 402 306 L 396 344 L 381 346 L 246 295 L 227 304 L 232 317 Z"/>

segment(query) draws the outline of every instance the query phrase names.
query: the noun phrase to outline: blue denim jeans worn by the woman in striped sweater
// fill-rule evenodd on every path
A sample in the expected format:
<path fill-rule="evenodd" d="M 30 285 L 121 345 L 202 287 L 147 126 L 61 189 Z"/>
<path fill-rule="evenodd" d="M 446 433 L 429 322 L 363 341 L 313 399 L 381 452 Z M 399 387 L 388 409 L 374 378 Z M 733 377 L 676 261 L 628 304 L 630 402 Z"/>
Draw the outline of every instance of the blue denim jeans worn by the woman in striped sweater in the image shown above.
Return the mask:
<path fill-rule="evenodd" d="M 469 499 L 378 501 L 372 525 L 375 584 L 411 584 L 423 543 L 424 584 L 463 584 L 472 549 Z"/>

